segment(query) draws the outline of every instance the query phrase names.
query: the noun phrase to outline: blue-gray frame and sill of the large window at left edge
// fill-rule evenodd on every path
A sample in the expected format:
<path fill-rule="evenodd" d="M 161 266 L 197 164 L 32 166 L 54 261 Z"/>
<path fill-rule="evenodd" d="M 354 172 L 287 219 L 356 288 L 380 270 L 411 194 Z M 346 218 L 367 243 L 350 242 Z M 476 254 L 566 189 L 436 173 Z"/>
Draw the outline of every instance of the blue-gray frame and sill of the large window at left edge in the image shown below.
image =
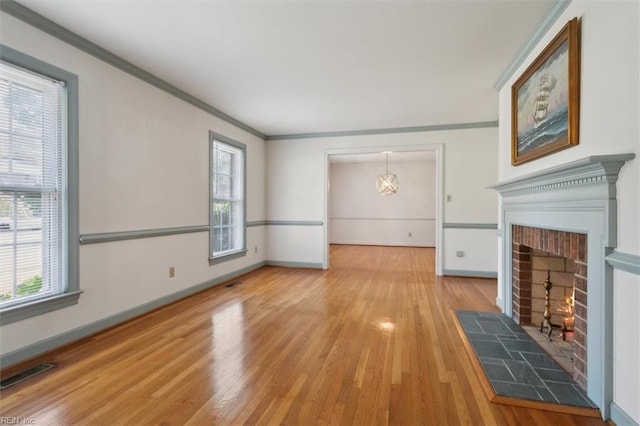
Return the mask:
<path fill-rule="evenodd" d="M 65 282 L 63 291 L 52 296 L 25 301 L 0 310 L 0 325 L 53 312 L 78 303 L 82 291 L 79 286 L 79 229 L 78 229 L 78 76 L 48 64 L 32 56 L 0 44 L 0 59 L 36 74 L 63 81 L 66 86 L 66 175 L 63 190 L 66 205 L 63 206 L 64 254 L 61 268 Z"/>

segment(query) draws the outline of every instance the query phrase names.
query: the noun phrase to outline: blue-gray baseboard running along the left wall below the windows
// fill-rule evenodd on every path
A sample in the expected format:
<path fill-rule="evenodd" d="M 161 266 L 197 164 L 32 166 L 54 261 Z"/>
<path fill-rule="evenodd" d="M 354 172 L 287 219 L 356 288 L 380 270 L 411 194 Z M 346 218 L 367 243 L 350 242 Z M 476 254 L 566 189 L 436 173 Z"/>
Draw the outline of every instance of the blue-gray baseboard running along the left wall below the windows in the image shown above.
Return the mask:
<path fill-rule="evenodd" d="M 213 287 L 225 281 L 229 281 L 231 279 L 237 278 L 241 275 L 244 275 L 246 273 L 259 269 L 265 266 L 265 264 L 266 264 L 265 262 L 260 262 L 251 266 L 247 266 L 245 268 L 231 272 L 229 274 L 222 275 L 218 278 L 205 281 L 203 283 L 194 285 L 184 290 L 180 290 L 176 293 L 169 294 L 167 296 L 161 297 L 151 302 L 144 303 L 142 305 L 136 306 L 126 311 L 111 315 L 107 318 L 103 318 L 101 320 L 92 322 L 91 324 L 80 326 L 78 328 L 58 334 L 48 339 L 41 340 L 32 345 L 25 346 L 24 348 L 20 348 L 15 351 L 6 353 L 0 357 L 0 368 L 6 368 L 8 366 L 17 364 L 27 359 L 34 358 L 38 355 L 42 355 L 62 345 L 66 345 L 68 343 L 74 342 L 76 340 L 82 339 L 92 334 L 96 334 L 100 331 L 106 330 L 109 327 L 113 327 L 125 321 L 134 319 L 138 316 L 151 312 L 154 309 L 160 308 L 162 306 L 168 305 L 173 302 L 177 302 L 180 299 L 184 299 L 185 297 L 189 297 L 203 290 L 206 290 L 210 287 Z"/>

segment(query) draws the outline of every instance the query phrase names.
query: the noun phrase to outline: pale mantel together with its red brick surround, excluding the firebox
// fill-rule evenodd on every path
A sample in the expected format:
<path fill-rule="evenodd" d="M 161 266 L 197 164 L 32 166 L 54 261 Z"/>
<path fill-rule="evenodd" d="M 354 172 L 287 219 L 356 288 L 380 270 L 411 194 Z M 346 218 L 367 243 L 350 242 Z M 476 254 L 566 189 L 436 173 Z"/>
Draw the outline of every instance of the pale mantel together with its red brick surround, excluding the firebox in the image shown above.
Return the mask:
<path fill-rule="evenodd" d="M 531 251 L 572 262 L 574 375 L 603 420 L 613 401 L 613 272 L 607 261 L 617 246 L 616 182 L 634 157 L 585 157 L 494 187 L 502 205 L 496 304 L 517 322 L 531 323 Z"/>

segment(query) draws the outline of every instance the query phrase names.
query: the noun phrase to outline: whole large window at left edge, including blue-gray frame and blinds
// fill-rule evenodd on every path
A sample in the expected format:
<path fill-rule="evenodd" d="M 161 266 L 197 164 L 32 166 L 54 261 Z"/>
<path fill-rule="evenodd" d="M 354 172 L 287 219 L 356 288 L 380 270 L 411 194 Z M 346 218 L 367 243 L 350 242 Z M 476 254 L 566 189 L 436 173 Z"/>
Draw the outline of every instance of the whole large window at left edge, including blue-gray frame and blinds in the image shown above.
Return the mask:
<path fill-rule="evenodd" d="M 77 78 L 0 51 L 0 319 L 7 324 L 77 303 L 80 293 L 77 179 L 69 179 Z"/>

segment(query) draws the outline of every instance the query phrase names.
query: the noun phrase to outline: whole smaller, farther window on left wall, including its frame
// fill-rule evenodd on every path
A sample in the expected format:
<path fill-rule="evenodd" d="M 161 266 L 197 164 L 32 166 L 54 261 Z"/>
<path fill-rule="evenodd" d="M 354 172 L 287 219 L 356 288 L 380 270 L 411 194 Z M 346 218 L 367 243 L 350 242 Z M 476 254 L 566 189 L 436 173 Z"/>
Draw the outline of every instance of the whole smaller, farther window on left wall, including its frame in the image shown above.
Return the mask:
<path fill-rule="evenodd" d="M 246 254 L 245 145 L 210 132 L 210 263 Z"/>

